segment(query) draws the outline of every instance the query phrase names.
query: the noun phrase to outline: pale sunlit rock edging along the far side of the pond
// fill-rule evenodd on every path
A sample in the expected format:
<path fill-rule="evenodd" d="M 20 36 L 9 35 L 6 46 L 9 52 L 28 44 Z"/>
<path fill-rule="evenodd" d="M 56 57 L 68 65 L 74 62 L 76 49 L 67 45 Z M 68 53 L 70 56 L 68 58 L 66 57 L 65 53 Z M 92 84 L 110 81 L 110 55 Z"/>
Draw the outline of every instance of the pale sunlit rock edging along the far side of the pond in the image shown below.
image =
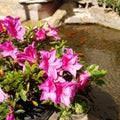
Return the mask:
<path fill-rule="evenodd" d="M 120 16 L 113 11 L 105 12 L 104 8 L 93 6 L 88 9 L 78 8 L 74 2 L 63 4 L 48 21 L 54 27 L 60 24 L 98 23 L 100 25 L 120 30 Z"/>

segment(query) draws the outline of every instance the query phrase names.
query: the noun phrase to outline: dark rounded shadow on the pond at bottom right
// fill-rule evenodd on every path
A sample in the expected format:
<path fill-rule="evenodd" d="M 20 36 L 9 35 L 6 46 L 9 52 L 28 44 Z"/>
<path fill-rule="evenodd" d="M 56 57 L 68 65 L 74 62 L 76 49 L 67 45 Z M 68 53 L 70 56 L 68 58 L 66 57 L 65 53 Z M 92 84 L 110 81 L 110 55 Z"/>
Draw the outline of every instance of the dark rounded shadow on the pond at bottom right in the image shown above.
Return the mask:
<path fill-rule="evenodd" d="M 119 120 L 118 106 L 112 96 L 97 87 L 92 87 L 89 96 L 92 107 L 88 120 Z"/>

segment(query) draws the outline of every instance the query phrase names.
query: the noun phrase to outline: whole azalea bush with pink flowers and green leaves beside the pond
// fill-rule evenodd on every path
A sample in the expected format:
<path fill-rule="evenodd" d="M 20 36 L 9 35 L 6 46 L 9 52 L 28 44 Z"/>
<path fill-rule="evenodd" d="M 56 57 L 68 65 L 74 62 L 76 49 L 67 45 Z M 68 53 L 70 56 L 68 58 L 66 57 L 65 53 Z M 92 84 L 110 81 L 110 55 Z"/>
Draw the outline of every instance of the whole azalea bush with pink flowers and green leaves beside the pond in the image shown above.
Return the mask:
<path fill-rule="evenodd" d="M 102 85 L 105 74 L 97 65 L 82 64 L 49 24 L 45 29 L 22 26 L 19 17 L 0 20 L 0 120 L 23 119 L 26 102 L 65 111 L 91 82 Z"/>

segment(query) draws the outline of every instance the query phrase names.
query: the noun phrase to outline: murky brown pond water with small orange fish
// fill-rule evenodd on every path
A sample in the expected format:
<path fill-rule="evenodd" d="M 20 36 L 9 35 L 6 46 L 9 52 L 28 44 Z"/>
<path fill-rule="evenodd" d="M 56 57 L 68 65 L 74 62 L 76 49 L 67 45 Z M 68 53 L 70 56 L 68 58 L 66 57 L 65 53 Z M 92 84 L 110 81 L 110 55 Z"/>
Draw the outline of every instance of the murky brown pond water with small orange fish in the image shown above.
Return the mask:
<path fill-rule="evenodd" d="M 60 36 L 88 65 L 108 71 L 105 85 L 92 86 L 89 120 L 120 120 L 120 31 L 99 25 L 65 25 Z"/>

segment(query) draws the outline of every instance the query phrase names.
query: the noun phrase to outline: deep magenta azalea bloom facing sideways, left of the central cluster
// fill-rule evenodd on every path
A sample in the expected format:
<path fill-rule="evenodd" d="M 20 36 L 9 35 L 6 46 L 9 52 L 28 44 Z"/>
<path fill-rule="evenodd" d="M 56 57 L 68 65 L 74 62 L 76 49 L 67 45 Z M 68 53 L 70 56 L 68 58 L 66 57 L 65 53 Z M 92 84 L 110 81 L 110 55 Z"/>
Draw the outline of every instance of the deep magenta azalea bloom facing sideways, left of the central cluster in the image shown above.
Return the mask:
<path fill-rule="evenodd" d="M 36 63 L 38 60 L 38 53 L 34 47 L 34 43 L 26 47 L 24 49 L 24 52 L 18 52 L 16 56 L 17 56 L 17 61 L 19 65 L 23 66 L 23 71 L 25 71 L 25 66 L 24 66 L 25 61 L 28 61 L 29 64 L 32 65 Z"/>

